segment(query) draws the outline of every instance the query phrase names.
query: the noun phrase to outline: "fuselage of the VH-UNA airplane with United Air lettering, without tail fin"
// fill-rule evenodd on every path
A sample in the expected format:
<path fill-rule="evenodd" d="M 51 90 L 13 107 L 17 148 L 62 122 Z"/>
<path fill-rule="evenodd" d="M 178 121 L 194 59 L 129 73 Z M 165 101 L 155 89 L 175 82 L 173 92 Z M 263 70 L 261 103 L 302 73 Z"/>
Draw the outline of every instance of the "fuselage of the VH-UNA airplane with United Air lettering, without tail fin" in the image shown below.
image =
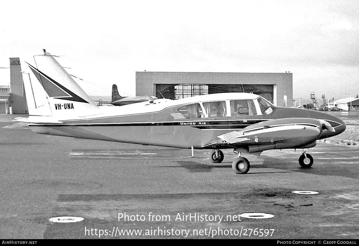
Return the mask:
<path fill-rule="evenodd" d="M 251 96 L 251 99 L 248 96 Z M 205 115 L 205 118 L 185 118 L 186 115 L 178 111 L 178 109 L 193 103 L 199 103 L 201 108 L 203 103 L 217 101 L 224 101 L 228 105 L 230 105 L 230 101 L 235 100 L 254 100 L 257 103 L 256 99 L 253 98 L 258 98 L 258 96 L 246 93 L 221 93 L 176 101 L 157 99 L 151 104 L 147 101 L 124 105 L 121 108 L 102 107 L 93 117 L 61 120 L 63 124 L 60 125 L 29 123 L 29 127 L 34 132 L 43 134 L 178 148 L 191 148 L 191 146 L 194 148 L 215 148 L 208 145 L 218 141 L 217 136 L 241 131 L 243 128 L 257 123 L 272 125 L 273 122 L 269 122 L 269 120 L 273 119 L 276 119 L 276 122 L 272 126 L 300 125 L 313 126 L 318 129 L 322 127 L 318 119 L 329 122 L 334 127 L 335 132 L 321 130 L 317 139 L 334 136 L 345 129 L 345 124 L 341 119 L 330 114 L 307 109 L 273 107 L 273 111 L 268 115 L 231 115 L 230 112 L 227 112 L 224 116 Z M 69 103 L 64 103 L 64 105 L 66 104 Z M 57 110 L 71 111 L 75 108 L 70 103 Z M 292 120 L 288 121 L 288 118 L 292 118 Z M 297 118 L 301 118 L 301 122 L 298 122 Z M 31 119 L 30 116 L 29 120 Z M 285 137 L 288 148 L 304 146 L 307 143 L 303 139 L 305 138 L 303 134 L 295 136 L 289 131 Z M 310 138 L 309 143 L 317 139 Z M 264 144 L 270 143 L 270 141 L 258 141 L 256 144 L 258 143 Z M 232 146 L 224 144 L 221 148 L 232 148 Z M 281 148 L 284 149 L 286 146 L 284 145 Z"/>

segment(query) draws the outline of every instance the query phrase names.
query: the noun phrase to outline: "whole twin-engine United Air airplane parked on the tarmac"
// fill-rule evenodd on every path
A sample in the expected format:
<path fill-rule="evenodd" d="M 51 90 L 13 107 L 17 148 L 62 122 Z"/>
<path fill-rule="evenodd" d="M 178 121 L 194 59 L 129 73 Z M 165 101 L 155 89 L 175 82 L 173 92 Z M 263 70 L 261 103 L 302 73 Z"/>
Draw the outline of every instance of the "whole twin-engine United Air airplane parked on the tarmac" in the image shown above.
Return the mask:
<path fill-rule="evenodd" d="M 260 155 L 272 149 L 303 149 L 302 167 L 313 158 L 304 149 L 316 140 L 340 134 L 342 120 L 297 108 L 275 107 L 256 94 L 220 93 L 179 100 L 156 99 L 98 107 L 48 53 L 23 62 L 29 110 L 28 124 L 41 134 L 177 148 L 213 149 L 212 162 L 222 162 L 220 149 L 238 153 L 232 168 L 245 174 L 250 162 L 241 153 Z"/>

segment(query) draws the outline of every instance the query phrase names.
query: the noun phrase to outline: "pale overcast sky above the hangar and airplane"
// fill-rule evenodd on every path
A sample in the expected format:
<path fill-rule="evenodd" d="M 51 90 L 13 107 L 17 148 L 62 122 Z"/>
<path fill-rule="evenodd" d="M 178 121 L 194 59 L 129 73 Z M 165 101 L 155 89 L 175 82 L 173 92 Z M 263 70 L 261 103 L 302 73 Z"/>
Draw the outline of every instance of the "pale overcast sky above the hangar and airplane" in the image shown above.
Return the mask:
<path fill-rule="evenodd" d="M 290 71 L 294 99 L 359 94 L 358 0 L 17 0 L 0 21 L 0 67 L 45 48 L 89 95 L 135 95 L 145 70 Z"/>

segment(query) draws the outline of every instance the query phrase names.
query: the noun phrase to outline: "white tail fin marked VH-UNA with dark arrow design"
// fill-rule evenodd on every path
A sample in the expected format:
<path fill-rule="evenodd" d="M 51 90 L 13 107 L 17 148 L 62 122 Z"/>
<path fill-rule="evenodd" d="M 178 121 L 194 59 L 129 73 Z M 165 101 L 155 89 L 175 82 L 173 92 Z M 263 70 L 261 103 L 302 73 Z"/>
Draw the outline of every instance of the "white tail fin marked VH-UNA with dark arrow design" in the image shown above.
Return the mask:
<path fill-rule="evenodd" d="M 98 108 L 50 54 L 34 56 L 36 66 L 24 62 L 23 80 L 30 115 L 57 120 L 93 114 Z"/>

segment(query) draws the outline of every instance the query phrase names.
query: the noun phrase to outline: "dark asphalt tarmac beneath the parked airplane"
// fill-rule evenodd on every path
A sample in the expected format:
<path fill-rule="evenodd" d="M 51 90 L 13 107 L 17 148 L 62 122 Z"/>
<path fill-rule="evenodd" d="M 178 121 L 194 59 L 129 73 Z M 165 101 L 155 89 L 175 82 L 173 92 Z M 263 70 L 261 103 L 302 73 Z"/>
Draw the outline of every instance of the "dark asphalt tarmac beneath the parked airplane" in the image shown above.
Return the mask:
<path fill-rule="evenodd" d="M 209 150 L 189 157 L 9 124 L 0 117 L 1 238 L 359 238 L 358 148 L 318 143 L 309 169 L 300 150 L 244 155 L 251 169 L 238 175 L 232 150 L 212 164 Z M 238 217 L 250 212 L 273 217 Z M 49 221 L 58 216 L 84 219 Z"/>

